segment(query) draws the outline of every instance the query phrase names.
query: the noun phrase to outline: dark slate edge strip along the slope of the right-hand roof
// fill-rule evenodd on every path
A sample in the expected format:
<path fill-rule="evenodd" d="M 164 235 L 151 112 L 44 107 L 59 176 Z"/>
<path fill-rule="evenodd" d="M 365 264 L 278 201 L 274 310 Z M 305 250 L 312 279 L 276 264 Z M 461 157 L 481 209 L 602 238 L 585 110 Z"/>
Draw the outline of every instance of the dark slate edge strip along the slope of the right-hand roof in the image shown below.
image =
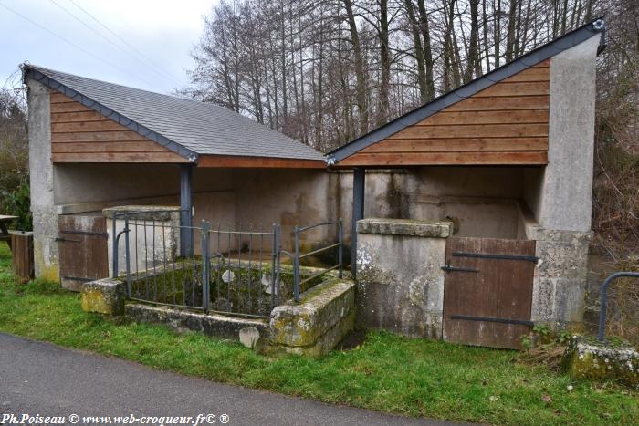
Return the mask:
<path fill-rule="evenodd" d="M 478 91 L 492 86 L 499 81 L 511 77 L 526 68 L 539 64 L 550 57 L 563 52 L 573 46 L 580 44 L 588 38 L 595 36 L 599 33 L 603 33 L 600 39 L 600 45 L 597 53 L 600 53 L 605 47 L 605 23 L 602 17 L 593 19 L 590 23 L 585 24 L 570 33 L 560 36 L 550 43 L 547 43 L 541 47 L 531 50 L 529 53 L 518 57 L 517 59 L 503 65 L 499 68 L 495 68 L 492 71 L 484 74 L 483 76 L 474 79 L 473 81 L 449 91 L 444 95 L 435 98 L 434 100 L 422 105 L 421 107 L 407 112 L 403 116 L 393 119 L 388 123 L 378 127 L 375 130 L 362 135 L 361 137 L 351 140 L 349 143 L 340 146 L 340 148 L 330 151 L 326 154 L 326 162 L 328 165 L 339 163 L 340 161 L 350 157 L 352 154 L 363 150 L 366 147 L 371 146 L 373 143 L 377 143 L 381 140 L 388 138 L 389 136 L 403 130 L 409 126 L 426 119 L 436 112 L 449 107 L 460 100 L 466 99 Z"/>

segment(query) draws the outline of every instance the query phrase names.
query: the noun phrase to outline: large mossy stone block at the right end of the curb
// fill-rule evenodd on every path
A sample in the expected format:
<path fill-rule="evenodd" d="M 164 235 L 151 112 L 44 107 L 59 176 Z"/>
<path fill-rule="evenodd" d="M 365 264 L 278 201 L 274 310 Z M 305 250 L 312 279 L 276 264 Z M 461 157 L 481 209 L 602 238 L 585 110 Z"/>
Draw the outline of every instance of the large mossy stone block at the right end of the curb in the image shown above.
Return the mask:
<path fill-rule="evenodd" d="M 354 307 L 353 282 L 339 278 L 325 281 L 300 295 L 299 305 L 289 301 L 273 310 L 271 343 L 288 348 L 311 348 L 319 344 L 321 348 L 311 350 L 313 354 L 328 352 L 338 343 L 335 338 L 343 337 L 340 323 L 351 316 Z M 322 339 L 335 327 L 341 331 L 334 338 Z"/>

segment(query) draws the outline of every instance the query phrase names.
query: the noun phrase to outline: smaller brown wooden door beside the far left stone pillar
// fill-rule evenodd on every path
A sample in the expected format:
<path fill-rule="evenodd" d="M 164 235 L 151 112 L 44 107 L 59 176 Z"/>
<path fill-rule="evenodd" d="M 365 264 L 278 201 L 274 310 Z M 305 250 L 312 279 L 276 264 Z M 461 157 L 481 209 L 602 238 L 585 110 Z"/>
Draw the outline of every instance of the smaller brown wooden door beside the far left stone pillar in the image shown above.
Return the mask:
<path fill-rule="evenodd" d="M 60 283 L 79 291 L 82 284 L 109 276 L 107 221 L 100 215 L 58 216 Z"/>

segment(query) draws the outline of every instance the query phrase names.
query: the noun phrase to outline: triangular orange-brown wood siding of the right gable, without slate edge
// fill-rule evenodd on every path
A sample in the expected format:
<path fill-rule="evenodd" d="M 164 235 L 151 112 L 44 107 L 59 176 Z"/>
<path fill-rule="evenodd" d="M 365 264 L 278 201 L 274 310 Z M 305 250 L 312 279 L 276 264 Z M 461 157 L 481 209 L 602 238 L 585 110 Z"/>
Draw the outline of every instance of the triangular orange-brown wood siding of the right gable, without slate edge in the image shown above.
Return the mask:
<path fill-rule="evenodd" d="M 354 153 L 338 166 L 546 164 L 549 104 L 546 60 Z"/>

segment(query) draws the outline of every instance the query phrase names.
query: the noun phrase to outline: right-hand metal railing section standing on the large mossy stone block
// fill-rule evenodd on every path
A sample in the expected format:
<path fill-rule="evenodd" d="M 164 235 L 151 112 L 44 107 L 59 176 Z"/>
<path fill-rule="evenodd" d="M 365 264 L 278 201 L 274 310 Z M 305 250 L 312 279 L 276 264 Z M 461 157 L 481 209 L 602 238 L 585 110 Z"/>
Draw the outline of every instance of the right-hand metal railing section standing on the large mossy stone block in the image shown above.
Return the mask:
<path fill-rule="evenodd" d="M 300 253 L 300 246 L 299 246 L 300 234 L 306 231 L 309 231 L 311 229 L 319 228 L 320 226 L 331 226 L 331 225 L 337 225 L 337 234 L 338 234 L 337 243 L 317 248 L 305 254 Z M 339 219 L 337 221 L 315 223 L 308 226 L 296 226 L 294 228 L 294 234 L 295 234 L 294 252 L 290 253 L 286 250 L 281 250 L 281 249 L 279 250 L 279 252 L 281 252 L 282 254 L 288 255 L 293 262 L 293 298 L 296 303 L 299 303 L 300 287 L 303 286 L 305 283 L 309 283 L 310 281 L 319 277 L 319 275 L 324 275 L 327 272 L 332 271 L 333 269 L 339 269 L 339 276 L 340 278 L 342 277 L 343 252 L 344 252 L 344 224 L 342 220 Z M 335 248 L 337 248 L 337 264 L 328 266 L 326 268 L 321 268 L 319 269 L 319 271 L 306 276 L 304 279 L 301 279 L 300 263 L 302 259 L 309 256 L 313 256 L 313 255 L 319 255 L 320 253 L 323 253 Z"/>

